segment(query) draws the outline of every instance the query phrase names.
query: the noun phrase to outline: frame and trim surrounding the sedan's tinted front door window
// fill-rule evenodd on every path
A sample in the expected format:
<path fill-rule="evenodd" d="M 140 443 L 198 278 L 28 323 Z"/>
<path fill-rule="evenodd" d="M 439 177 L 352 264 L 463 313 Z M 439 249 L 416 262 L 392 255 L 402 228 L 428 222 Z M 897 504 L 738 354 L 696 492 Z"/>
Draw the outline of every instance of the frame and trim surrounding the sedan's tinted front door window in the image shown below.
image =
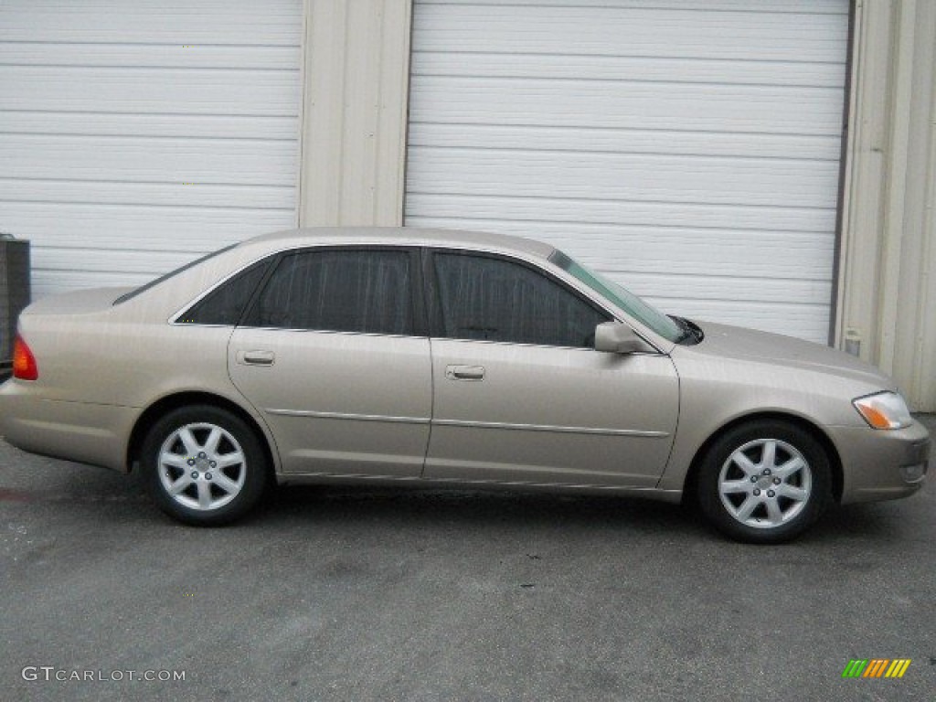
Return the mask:
<path fill-rule="evenodd" d="M 563 279 L 561 279 L 552 271 L 549 271 L 547 268 L 540 266 L 533 261 L 520 258 L 518 256 L 512 256 L 510 254 L 503 254 L 495 251 L 485 251 L 481 249 L 466 249 L 458 246 L 426 246 L 423 248 L 422 272 L 426 285 L 426 298 L 428 300 L 427 314 L 429 315 L 430 321 L 431 339 L 471 342 L 474 344 L 506 344 L 511 346 L 533 346 L 535 348 L 562 348 L 575 351 L 594 351 L 594 347 L 590 348 L 588 346 L 532 344 L 530 342 L 495 341 L 491 339 L 462 339 L 461 337 L 446 336 L 445 320 L 443 319 L 442 315 L 442 288 L 439 284 L 438 271 L 435 267 L 434 260 L 434 256 L 436 254 L 454 254 L 457 256 L 474 256 L 475 258 L 491 258 L 494 260 L 505 261 L 506 263 L 517 264 L 522 268 L 527 269 L 528 271 L 533 271 L 534 273 L 542 275 L 543 277 L 547 278 L 550 283 L 558 285 L 565 292 L 578 298 L 578 300 L 581 300 L 587 304 L 596 313 L 607 317 L 605 319 L 606 322 L 621 321 L 617 314 L 614 314 L 608 310 L 604 305 L 598 304 L 595 300 L 592 300 L 589 296 L 585 295 L 582 291 L 578 290 L 573 285 L 569 285 L 567 282 L 563 281 Z"/>

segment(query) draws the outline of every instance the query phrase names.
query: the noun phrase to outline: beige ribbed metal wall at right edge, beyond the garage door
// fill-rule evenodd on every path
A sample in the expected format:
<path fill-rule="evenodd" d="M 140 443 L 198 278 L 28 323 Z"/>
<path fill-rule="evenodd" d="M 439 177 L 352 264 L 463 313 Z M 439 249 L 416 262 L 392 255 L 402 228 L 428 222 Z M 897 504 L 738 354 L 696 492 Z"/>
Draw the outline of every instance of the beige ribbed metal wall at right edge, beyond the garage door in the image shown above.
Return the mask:
<path fill-rule="evenodd" d="M 936 4 L 856 7 L 836 342 L 936 411 Z"/>

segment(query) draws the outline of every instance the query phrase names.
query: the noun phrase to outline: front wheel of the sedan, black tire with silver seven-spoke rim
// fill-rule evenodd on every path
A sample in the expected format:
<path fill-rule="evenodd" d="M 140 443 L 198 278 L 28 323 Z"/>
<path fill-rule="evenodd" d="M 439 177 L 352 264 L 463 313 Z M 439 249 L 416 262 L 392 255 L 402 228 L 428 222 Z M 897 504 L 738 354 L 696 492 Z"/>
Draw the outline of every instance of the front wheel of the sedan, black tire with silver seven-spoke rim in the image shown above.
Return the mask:
<path fill-rule="evenodd" d="M 826 449 L 794 424 L 758 420 L 720 436 L 703 457 L 698 504 L 723 534 L 779 544 L 802 534 L 831 501 Z"/>

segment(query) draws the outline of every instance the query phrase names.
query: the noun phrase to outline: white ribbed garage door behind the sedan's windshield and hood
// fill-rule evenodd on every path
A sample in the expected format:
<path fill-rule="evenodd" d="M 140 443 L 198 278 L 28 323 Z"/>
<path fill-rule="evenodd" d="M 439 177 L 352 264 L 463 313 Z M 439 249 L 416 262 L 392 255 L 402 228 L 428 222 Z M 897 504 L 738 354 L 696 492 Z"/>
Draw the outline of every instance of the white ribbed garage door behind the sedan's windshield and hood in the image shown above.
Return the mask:
<path fill-rule="evenodd" d="M 847 35 L 847 0 L 417 1 L 406 223 L 826 343 Z"/>

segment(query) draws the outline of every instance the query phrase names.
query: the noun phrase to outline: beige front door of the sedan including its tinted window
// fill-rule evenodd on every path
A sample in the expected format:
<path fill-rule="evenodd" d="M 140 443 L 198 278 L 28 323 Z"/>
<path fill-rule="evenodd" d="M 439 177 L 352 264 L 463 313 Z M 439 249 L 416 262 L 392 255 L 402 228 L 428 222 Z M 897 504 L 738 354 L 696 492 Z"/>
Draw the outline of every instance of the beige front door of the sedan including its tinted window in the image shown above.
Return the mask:
<path fill-rule="evenodd" d="M 529 262 L 431 254 L 434 409 L 424 475 L 651 488 L 679 411 L 664 354 L 594 350 L 611 317 Z"/>

